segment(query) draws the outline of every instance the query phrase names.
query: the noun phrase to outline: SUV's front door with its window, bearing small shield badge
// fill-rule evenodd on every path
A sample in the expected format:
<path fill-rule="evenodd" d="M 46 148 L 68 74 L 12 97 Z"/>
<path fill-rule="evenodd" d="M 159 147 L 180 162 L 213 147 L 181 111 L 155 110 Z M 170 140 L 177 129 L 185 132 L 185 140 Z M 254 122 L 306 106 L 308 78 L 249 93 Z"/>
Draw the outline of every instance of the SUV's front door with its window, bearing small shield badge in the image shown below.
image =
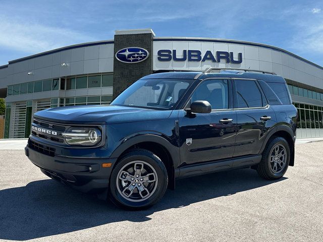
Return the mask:
<path fill-rule="evenodd" d="M 231 158 L 236 139 L 237 116 L 232 110 L 231 81 L 202 81 L 194 90 L 191 102 L 205 100 L 210 113 L 179 112 L 181 165 Z"/>

